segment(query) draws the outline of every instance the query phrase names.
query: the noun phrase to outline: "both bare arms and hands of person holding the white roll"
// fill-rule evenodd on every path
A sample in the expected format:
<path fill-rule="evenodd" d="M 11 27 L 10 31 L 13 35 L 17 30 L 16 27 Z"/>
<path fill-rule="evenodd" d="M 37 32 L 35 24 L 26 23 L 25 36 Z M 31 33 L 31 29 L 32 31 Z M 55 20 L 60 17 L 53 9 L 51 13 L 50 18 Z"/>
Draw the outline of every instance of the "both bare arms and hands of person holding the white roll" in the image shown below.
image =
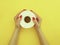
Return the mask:
<path fill-rule="evenodd" d="M 22 10 L 21 12 L 25 11 L 26 9 Z M 32 10 L 30 10 L 31 12 L 33 12 Z M 19 14 L 21 13 L 19 12 L 15 17 L 14 17 L 14 21 L 15 21 L 15 29 L 14 29 L 14 33 L 12 35 L 12 38 L 11 40 L 9 41 L 9 44 L 8 45 L 17 45 L 17 42 L 18 42 L 18 37 L 19 37 L 19 33 L 20 33 L 20 30 L 21 30 L 21 26 L 19 25 L 21 19 L 22 19 L 22 16 Z M 35 13 L 33 12 L 35 15 L 36 15 L 36 19 L 34 17 L 32 17 L 32 20 L 34 22 L 34 28 L 37 32 L 37 36 L 39 38 L 39 42 L 41 45 L 48 45 L 43 33 L 42 33 L 42 30 L 40 29 L 40 25 L 41 24 L 41 18 Z"/>

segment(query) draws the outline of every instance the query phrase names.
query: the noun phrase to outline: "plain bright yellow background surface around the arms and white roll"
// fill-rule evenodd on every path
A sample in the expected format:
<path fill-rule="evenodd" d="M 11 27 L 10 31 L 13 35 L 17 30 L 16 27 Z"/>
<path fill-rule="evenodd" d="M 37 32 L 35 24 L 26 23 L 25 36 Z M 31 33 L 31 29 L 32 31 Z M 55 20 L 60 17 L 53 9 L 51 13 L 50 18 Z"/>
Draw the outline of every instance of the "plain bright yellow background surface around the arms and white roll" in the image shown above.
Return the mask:
<path fill-rule="evenodd" d="M 60 0 L 0 0 L 0 45 L 8 45 L 14 16 L 32 9 L 42 18 L 41 29 L 50 45 L 60 45 Z M 18 45 L 39 45 L 33 28 L 21 30 Z"/>

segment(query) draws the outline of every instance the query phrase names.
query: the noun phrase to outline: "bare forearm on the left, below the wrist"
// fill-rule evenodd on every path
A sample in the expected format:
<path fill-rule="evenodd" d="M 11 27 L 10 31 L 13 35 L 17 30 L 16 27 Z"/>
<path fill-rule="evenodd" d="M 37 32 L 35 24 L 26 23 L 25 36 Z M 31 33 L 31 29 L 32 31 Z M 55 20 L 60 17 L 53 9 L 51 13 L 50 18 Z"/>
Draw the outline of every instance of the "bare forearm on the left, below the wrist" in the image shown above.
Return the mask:
<path fill-rule="evenodd" d="M 15 28 L 14 33 L 12 35 L 12 38 L 9 42 L 9 45 L 17 45 L 17 40 L 18 40 L 18 36 L 19 36 L 19 29 Z"/>

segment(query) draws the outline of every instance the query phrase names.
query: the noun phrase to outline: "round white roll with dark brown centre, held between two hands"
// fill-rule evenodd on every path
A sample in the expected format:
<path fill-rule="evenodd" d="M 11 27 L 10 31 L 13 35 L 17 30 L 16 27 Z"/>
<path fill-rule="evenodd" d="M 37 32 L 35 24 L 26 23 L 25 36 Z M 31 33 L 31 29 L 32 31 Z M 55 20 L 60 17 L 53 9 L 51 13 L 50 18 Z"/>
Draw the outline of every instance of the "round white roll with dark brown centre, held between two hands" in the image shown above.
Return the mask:
<path fill-rule="evenodd" d="M 29 10 L 26 10 L 26 11 L 23 11 L 21 12 L 22 15 L 22 20 L 20 21 L 20 25 L 23 27 L 23 28 L 31 28 L 34 26 L 34 23 L 32 21 L 32 17 L 35 17 L 35 14 Z"/>

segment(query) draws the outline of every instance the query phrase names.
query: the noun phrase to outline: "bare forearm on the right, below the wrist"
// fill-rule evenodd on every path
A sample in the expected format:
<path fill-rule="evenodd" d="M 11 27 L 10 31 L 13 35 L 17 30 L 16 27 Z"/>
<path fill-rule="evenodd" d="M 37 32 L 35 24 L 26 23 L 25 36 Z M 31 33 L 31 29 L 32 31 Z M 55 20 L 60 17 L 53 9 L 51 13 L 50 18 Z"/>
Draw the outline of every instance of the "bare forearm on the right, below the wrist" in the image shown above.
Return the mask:
<path fill-rule="evenodd" d="M 45 39 L 41 29 L 36 29 L 36 32 L 37 32 L 37 35 L 38 35 L 38 38 L 39 38 L 39 41 L 40 41 L 40 44 L 41 45 L 48 45 L 47 43 L 47 40 Z"/>

